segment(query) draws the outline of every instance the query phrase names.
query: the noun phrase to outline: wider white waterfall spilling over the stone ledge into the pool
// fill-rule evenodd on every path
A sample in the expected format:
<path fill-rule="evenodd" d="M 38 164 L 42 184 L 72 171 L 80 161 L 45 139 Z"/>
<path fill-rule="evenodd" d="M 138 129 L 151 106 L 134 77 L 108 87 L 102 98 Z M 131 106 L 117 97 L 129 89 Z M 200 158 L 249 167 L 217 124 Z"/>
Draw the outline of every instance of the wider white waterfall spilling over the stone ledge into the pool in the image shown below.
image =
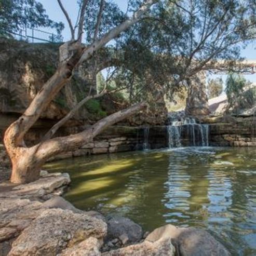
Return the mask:
<path fill-rule="evenodd" d="M 169 148 L 182 146 L 182 135 L 187 138 L 188 146 L 209 145 L 209 126 L 197 124 L 195 118 L 192 117 L 179 118 L 179 120 L 169 119 L 167 133 Z"/>

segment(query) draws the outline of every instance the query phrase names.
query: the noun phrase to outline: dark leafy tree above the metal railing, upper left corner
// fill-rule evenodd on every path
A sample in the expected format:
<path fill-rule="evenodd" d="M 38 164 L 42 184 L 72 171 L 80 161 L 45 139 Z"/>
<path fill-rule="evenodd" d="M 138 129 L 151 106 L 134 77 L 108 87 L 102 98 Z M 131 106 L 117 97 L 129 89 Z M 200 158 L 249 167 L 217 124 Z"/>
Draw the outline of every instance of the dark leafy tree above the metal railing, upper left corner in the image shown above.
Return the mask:
<path fill-rule="evenodd" d="M 60 34 L 62 22 L 49 19 L 41 3 L 36 0 L 0 0 L 0 36 L 11 36 L 20 29 L 55 28 Z"/>

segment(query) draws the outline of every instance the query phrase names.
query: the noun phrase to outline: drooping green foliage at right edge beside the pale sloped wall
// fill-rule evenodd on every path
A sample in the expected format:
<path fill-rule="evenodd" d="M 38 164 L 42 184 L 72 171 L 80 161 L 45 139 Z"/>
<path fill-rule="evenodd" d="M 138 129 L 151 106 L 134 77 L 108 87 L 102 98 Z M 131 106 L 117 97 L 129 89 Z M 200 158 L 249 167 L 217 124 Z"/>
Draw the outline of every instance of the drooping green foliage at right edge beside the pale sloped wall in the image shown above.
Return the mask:
<path fill-rule="evenodd" d="M 226 79 L 225 89 L 227 100 L 233 112 L 239 109 L 247 109 L 256 101 L 256 90 L 250 87 L 244 76 L 230 73 Z"/>

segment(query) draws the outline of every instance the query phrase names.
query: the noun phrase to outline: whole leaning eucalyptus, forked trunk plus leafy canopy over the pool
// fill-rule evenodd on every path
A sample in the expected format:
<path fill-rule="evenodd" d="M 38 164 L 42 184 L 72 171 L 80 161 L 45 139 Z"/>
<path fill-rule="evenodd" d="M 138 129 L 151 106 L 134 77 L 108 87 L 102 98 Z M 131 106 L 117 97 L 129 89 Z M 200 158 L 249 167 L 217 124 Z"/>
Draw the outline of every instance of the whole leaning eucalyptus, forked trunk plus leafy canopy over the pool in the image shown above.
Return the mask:
<path fill-rule="evenodd" d="M 148 98 L 151 102 L 157 101 L 166 91 L 178 90 L 184 80 L 190 80 L 198 72 L 220 68 L 220 59 L 227 59 L 226 64 L 233 63 L 239 58 L 242 44 L 255 38 L 253 8 L 244 8 L 245 2 L 145 0 L 141 3 L 132 0 L 127 14 L 122 14 L 119 10 L 112 11 L 116 7 L 110 1 L 83 0 L 79 2 L 79 16 L 73 24 L 58 0 L 69 23 L 71 40 L 60 47 L 56 73 L 24 114 L 6 130 L 4 143 L 12 162 L 11 182 L 37 179 L 42 165 L 51 156 L 90 142 L 106 127 L 143 110 Z M 83 34 L 86 44 L 82 43 Z M 108 47 L 104 48 L 106 45 Z M 85 102 L 104 95 L 106 88 L 103 88 L 98 94 L 89 94 L 78 102 L 40 143 L 27 147 L 25 133 L 72 77 L 74 70 L 97 61 L 97 53 L 107 52 L 109 48 L 113 50 L 110 62 L 118 65 L 117 85 L 122 87 L 126 83 L 129 86 L 131 105 L 82 132 L 52 138 Z M 107 56 L 100 60 L 108 61 Z"/>

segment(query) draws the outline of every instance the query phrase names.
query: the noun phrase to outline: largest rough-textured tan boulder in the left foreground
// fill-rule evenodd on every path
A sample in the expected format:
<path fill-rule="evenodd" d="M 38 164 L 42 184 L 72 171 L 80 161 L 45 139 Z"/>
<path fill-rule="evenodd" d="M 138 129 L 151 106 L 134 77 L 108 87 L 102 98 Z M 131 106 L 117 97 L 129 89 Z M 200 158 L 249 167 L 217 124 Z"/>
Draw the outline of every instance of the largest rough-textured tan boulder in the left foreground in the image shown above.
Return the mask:
<path fill-rule="evenodd" d="M 89 237 L 102 239 L 105 235 L 106 224 L 99 219 L 70 210 L 47 209 L 23 230 L 8 255 L 55 256 Z"/>

